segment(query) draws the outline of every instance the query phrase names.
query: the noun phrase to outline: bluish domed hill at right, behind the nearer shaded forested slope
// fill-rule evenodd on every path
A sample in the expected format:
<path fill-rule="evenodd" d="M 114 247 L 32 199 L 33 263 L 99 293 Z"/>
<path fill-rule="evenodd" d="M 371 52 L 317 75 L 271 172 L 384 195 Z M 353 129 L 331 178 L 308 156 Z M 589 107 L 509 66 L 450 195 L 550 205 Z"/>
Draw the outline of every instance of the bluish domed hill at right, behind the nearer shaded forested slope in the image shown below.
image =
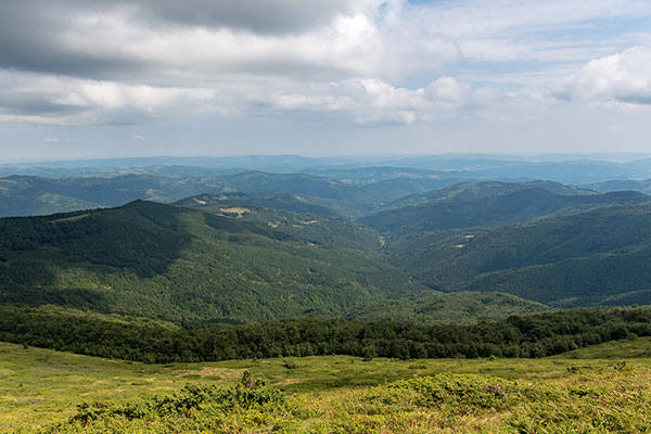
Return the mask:
<path fill-rule="evenodd" d="M 385 234 L 400 237 L 443 229 L 496 227 L 650 201 L 651 196 L 637 192 L 598 194 L 545 181 L 462 183 L 406 197 L 360 221 Z"/>

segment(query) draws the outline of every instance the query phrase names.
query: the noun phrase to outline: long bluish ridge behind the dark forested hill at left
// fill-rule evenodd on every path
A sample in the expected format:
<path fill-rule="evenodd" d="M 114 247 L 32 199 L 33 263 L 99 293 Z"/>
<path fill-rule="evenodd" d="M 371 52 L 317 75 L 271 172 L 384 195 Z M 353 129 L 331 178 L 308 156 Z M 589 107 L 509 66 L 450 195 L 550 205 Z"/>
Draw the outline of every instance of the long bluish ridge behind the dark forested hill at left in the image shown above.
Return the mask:
<path fill-rule="evenodd" d="M 0 178 L 0 217 L 74 212 L 91 207 L 115 207 L 136 200 L 173 203 L 203 193 L 253 194 L 246 200 L 264 206 L 285 208 L 282 202 L 314 202 L 320 207 L 303 210 L 357 218 L 383 203 L 431 188 L 423 180 L 394 179 L 353 184 L 304 174 L 247 171 L 234 175 L 196 176 L 191 168 L 178 173 L 162 167 L 155 175 L 127 174 L 108 177 Z M 197 169 L 200 173 L 201 170 Z M 196 171 L 196 170 L 195 170 Z M 167 175 L 166 175 L 167 174 Z M 424 182 L 424 183 L 423 183 Z M 437 181 L 438 182 L 438 181 Z M 284 195 L 264 197 L 264 193 Z M 294 195 L 294 197 L 291 197 Z M 304 204 L 305 205 L 305 204 Z M 298 209 L 298 208 L 297 208 Z"/>

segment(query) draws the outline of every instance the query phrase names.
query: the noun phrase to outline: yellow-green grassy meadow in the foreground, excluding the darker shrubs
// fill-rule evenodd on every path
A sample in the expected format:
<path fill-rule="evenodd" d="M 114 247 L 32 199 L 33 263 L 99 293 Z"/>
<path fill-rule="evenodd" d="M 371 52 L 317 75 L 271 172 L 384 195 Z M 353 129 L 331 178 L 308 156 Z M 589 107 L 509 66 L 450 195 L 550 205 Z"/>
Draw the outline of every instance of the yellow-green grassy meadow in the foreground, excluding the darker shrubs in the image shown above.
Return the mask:
<path fill-rule="evenodd" d="M 637 339 L 545 359 L 362 361 L 347 356 L 328 356 L 161 366 L 0 343 L 0 432 L 33 432 L 65 422 L 82 403 L 118 405 L 146 400 L 156 395 L 178 392 L 186 384 L 232 386 L 248 370 L 254 378 L 266 380 L 288 396 L 290 409 L 283 407 L 282 414 L 280 410 L 267 411 L 273 418 L 291 414 L 283 425 L 289 430 L 286 432 L 339 430 L 388 433 L 430 432 L 427 430 L 434 429 L 455 432 L 455 426 L 457 432 L 516 432 L 515 423 L 532 423 L 521 432 L 557 432 L 541 429 L 540 418 L 544 419 L 545 412 L 549 412 L 550 418 L 559 419 L 559 426 L 567 427 L 566 432 L 609 432 L 587 425 L 580 430 L 580 423 L 577 422 L 580 418 L 588 422 L 590 418 L 597 418 L 599 421 L 616 422 L 615 425 L 609 425 L 610 431 L 633 433 L 643 429 L 638 423 L 642 421 L 640 412 L 651 411 L 651 360 L 639 357 L 649 354 L 649 350 L 651 339 Z M 608 358 L 609 355 L 612 357 Z M 629 355 L 633 358 L 627 358 Z M 446 376 L 457 374 L 460 376 Z M 400 388 L 394 384 L 398 380 L 427 378 L 457 385 L 470 382 L 471 386 L 476 384 L 480 388 L 488 387 L 492 391 L 494 387 L 512 387 L 518 394 L 525 394 L 528 384 L 534 387 L 535 396 L 554 396 L 552 400 L 556 405 L 552 406 L 548 399 L 532 398 L 525 394 L 518 405 L 511 403 L 502 409 L 493 406 L 492 410 L 469 404 L 469 410 L 459 413 L 459 403 L 455 405 L 454 399 L 446 398 L 445 403 L 433 407 L 419 401 L 422 397 L 418 387 L 422 388 L 422 385 L 408 384 Z M 435 386 L 438 387 L 439 383 Z M 434 386 L 429 384 L 427 387 Z M 575 390 L 579 391 L 576 396 L 571 393 Z M 459 396 L 467 395 L 463 392 Z M 612 411 L 602 408 L 599 403 L 610 403 L 608 405 Z M 501 404 L 498 404 L 499 407 Z M 567 409 L 572 411 L 567 413 Z M 242 410 L 240 413 L 219 414 L 224 426 L 235 424 L 242 427 L 245 418 L 251 422 L 257 412 Z M 272 431 L 276 422 L 265 418 L 258 424 L 246 425 L 248 427 L 241 432 Z M 618 418 L 624 419 L 620 421 Z M 216 420 L 220 419 L 214 414 L 210 423 Z M 192 421 L 190 418 L 183 423 Z M 507 422 L 508 426 L 505 425 Z M 154 423 L 152 426 L 157 425 Z M 613 426 L 622 429 L 615 430 Z M 626 431 L 627 426 L 635 431 Z M 277 426 L 275 430 L 280 429 Z"/>

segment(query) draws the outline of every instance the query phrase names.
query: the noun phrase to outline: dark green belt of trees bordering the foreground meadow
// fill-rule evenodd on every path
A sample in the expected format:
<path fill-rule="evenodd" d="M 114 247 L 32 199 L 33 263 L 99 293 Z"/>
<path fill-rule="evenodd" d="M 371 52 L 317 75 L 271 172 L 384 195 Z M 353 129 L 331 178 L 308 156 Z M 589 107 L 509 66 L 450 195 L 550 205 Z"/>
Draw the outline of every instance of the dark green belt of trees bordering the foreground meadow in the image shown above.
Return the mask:
<path fill-rule="evenodd" d="M 304 318 L 187 329 L 53 306 L 0 306 L 1 341 L 145 362 L 319 355 L 537 358 L 650 335 L 649 307 L 567 309 L 468 326 Z"/>

